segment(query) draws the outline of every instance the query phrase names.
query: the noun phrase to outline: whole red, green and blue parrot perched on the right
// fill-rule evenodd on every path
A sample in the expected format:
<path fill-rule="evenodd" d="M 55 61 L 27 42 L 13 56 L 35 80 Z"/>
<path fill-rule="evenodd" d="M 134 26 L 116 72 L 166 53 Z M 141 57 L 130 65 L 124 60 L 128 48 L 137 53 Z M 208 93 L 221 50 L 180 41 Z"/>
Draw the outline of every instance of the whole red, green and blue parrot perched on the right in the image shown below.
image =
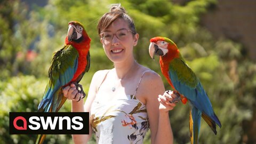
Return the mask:
<path fill-rule="evenodd" d="M 172 86 L 174 93 L 179 95 L 178 99 L 182 103 L 186 104 L 188 101 L 191 106 L 189 114 L 191 143 L 198 143 L 201 116 L 217 134 L 216 124 L 221 127 L 221 123 L 213 111 L 201 82 L 182 58 L 177 45 L 166 37 L 151 38 L 149 55 L 152 59 L 154 59 L 154 55 L 160 56 L 161 71 Z"/>

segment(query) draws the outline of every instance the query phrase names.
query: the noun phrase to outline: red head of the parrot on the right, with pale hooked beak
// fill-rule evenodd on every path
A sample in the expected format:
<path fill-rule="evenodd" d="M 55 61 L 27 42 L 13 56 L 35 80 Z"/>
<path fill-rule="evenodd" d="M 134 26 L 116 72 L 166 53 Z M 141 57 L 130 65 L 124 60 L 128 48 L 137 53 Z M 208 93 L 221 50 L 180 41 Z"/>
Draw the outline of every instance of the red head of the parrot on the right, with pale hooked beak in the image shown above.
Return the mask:
<path fill-rule="evenodd" d="M 171 52 L 177 54 L 179 52 L 178 47 L 166 37 L 153 37 L 150 39 L 149 55 L 154 60 L 154 55 L 164 56 Z"/>

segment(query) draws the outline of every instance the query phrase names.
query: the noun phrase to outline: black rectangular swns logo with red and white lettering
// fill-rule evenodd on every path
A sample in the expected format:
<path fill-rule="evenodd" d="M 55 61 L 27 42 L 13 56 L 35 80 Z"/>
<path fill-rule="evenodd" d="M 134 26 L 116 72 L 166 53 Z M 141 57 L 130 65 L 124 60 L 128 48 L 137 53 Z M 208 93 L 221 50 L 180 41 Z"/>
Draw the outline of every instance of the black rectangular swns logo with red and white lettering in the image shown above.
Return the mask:
<path fill-rule="evenodd" d="M 9 114 L 10 134 L 89 134 L 89 113 Z"/>

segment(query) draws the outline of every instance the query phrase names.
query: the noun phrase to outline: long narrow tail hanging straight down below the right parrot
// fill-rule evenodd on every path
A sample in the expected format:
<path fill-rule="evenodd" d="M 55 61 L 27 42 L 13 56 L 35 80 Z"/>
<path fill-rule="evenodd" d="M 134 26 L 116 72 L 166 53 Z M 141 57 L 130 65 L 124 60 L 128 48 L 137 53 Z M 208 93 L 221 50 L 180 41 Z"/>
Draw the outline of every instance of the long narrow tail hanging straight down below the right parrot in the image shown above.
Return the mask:
<path fill-rule="evenodd" d="M 189 114 L 189 131 L 190 131 L 190 142 L 191 144 L 198 143 L 200 123 L 201 123 L 201 111 L 197 108 L 192 107 Z"/>

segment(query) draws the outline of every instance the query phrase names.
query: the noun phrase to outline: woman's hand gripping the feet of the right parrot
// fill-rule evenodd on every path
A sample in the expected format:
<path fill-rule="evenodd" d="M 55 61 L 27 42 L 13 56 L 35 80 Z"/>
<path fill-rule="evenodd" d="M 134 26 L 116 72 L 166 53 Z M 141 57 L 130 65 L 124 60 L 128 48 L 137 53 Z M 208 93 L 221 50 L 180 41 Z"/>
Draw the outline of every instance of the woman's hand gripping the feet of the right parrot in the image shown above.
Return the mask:
<path fill-rule="evenodd" d="M 159 111 L 168 112 L 172 110 L 176 104 L 172 102 L 178 95 L 175 94 L 173 91 L 165 91 L 163 95 L 158 95 L 158 101 L 160 102 Z"/>

